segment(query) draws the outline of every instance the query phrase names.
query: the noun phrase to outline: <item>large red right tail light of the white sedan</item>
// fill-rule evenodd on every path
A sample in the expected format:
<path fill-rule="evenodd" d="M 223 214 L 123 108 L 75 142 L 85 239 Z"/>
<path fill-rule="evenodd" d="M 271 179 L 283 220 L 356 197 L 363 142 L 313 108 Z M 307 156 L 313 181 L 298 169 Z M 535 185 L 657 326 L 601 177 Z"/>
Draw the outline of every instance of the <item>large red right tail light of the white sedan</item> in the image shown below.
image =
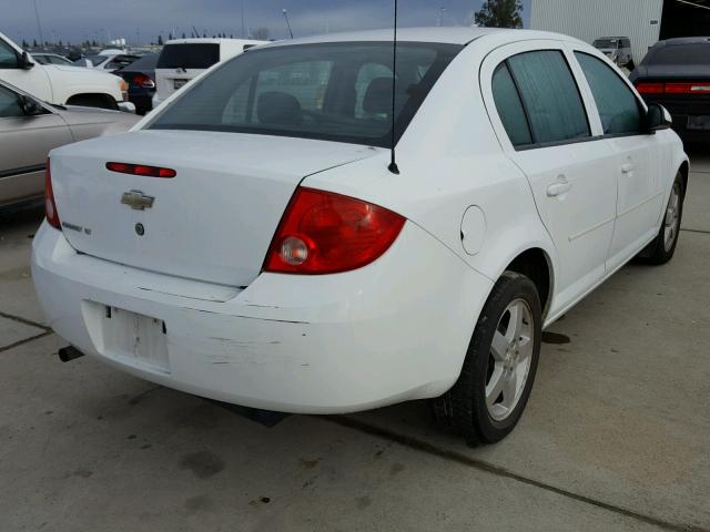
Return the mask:
<path fill-rule="evenodd" d="M 331 192 L 296 190 L 272 241 L 264 270 L 335 274 L 379 258 L 405 218 L 372 203 Z"/>

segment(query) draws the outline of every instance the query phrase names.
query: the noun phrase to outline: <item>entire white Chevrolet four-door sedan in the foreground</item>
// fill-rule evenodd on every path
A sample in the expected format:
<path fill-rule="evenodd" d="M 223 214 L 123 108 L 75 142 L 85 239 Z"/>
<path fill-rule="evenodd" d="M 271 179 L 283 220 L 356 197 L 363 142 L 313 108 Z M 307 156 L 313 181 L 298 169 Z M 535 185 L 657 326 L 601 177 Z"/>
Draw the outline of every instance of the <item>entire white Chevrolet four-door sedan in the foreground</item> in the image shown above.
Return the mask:
<path fill-rule="evenodd" d="M 54 150 L 32 256 L 51 327 L 223 401 L 435 398 L 471 442 L 509 433 L 541 330 L 631 258 L 672 257 L 688 157 L 580 41 L 400 39 L 394 91 L 389 31 L 282 41 Z"/>

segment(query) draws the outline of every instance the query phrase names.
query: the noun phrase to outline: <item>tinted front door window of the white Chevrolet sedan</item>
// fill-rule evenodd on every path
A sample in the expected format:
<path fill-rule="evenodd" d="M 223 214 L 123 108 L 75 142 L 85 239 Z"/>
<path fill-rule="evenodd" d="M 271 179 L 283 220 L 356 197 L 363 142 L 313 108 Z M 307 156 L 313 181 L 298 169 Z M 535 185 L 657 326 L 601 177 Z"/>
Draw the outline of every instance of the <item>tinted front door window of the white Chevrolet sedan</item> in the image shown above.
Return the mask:
<path fill-rule="evenodd" d="M 640 133 L 641 111 L 631 89 L 599 59 L 580 52 L 575 55 L 597 102 L 605 135 Z"/>

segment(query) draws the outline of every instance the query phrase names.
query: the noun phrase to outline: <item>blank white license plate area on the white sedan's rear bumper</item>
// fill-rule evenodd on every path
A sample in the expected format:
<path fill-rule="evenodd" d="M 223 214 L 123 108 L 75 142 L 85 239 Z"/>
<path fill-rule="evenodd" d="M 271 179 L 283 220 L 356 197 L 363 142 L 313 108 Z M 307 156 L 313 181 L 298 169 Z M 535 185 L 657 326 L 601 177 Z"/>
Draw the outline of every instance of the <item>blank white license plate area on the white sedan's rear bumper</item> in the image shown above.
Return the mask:
<path fill-rule="evenodd" d="M 102 306 L 103 348 L 114 358 L 129 358 L 163 372 L 170 371 L 168 330 L 161 319 Z"/>

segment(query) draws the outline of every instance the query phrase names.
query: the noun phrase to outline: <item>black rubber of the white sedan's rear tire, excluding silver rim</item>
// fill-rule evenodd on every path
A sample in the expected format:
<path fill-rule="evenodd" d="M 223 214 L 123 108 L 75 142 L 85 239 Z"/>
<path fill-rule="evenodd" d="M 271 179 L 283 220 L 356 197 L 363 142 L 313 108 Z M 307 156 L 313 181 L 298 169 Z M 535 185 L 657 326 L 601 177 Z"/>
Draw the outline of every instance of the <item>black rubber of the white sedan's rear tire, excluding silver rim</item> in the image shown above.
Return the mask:
<path fill-rule="evenodd" d="M 493 337 L 508 305 L 524 299 L 531 310 L 534 346 L 525 388 L 513 412 L 503 421 L 494 420 L 486 407 L 486 380 Z M 442 397 L 432 400 L 437 423 L 446 431 L 463 436 L 471 446 L 495 443 L 517 424 L 535 381 L 542 336 L 540 297 L 535 284 L 525 275 L 506 272 L 494 286 L 476 324 L 460 376 Z"/>

